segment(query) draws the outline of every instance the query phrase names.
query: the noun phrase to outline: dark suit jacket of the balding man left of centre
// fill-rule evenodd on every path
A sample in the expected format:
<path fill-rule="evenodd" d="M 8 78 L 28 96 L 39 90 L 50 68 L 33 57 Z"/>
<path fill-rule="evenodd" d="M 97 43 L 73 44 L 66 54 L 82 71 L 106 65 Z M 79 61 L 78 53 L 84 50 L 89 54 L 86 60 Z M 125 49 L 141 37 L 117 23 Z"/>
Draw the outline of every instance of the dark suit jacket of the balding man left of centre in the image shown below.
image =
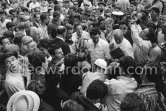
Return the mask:
<path fill-rule="evenodd" d="M 63 41 L 59 38 L 55 38 L 53 44 L 59 44 L 60 47 L 62 48 L 64 55 L 67 55 L 70 53 L 69 45 L 67 43 L 65 43 L 65 41 Z"/>

